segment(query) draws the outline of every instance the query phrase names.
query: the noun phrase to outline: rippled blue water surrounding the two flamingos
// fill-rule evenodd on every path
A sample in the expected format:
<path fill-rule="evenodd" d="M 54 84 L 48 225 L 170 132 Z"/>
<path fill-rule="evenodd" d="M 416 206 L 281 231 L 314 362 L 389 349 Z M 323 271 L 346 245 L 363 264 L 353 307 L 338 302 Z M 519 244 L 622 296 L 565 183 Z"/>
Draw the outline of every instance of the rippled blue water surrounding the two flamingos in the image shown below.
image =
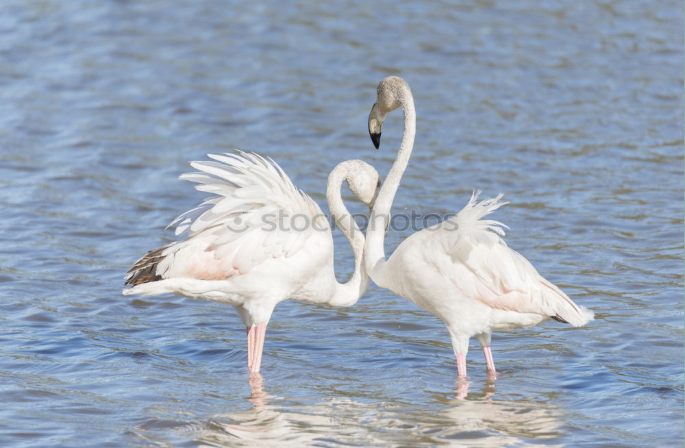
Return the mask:
<path fill-rule="evenodd" d="M 682 25 L 679 1 L 3 1 L 0 445 L 680 446 Z M 341 160 L 385 175 L 390 74 L 418 112 L 393 210 L 505 193 L 510 246 L 595 321 L 496 333 L 496 382 L 472 340 L 458 400 L 445 327 L 375 286 L 280 304 L 255 377 L 230 306 L 121 295 L 203 199 L 189 160 L 270 155 L 323 208 Z"/>

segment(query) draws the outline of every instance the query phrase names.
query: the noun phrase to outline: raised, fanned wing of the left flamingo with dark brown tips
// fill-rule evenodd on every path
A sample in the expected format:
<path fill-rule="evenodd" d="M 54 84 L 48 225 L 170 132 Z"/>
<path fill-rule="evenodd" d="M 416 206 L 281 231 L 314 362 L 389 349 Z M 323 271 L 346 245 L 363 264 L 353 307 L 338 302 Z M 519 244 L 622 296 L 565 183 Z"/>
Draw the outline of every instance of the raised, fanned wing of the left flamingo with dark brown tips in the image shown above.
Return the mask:
<path fill-rule="evenodd" d="M 186 239 L 150 251 L 134 267 L 128 283 L 147 269 L 154 281 L 173 277 L 226 279 L 246 273 L 269 258 L 297 253 L 316 232 L 329 229 L 321 208 L 295 188 L 271 159 L 256 153 L 209 155 L 191 162 L 199 170 L 180 179 L 213 194 L 175 219 Z"/>

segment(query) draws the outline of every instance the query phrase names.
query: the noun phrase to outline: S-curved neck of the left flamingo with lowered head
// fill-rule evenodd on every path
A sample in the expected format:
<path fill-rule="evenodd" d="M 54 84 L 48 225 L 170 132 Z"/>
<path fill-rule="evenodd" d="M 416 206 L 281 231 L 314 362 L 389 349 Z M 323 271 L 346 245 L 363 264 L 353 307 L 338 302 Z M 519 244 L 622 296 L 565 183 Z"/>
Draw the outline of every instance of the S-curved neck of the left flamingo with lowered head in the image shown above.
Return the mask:
<path fill-rule="evenodd" d="M 336 292 L 332 299 L 327 301 L 327 304 L 331 306 L 351 306 L 359 300 L 359 297 L 364 294 L 366 288 L 369 288 L 369 275 L 366 273 L 364 266 L 362 266 L 364 235 L 347 210 L 340 192 L 343 187 L 343 181 L 356 175 L 351 168 L 351 165 L 347 162 L 338 164 L 328 176 L 328 185 L 326 187 L 328 208 L 331 211 L 334 222 L 349 241 L 354 253 L 352 277 L 342 284 L 336 281 Z"/>

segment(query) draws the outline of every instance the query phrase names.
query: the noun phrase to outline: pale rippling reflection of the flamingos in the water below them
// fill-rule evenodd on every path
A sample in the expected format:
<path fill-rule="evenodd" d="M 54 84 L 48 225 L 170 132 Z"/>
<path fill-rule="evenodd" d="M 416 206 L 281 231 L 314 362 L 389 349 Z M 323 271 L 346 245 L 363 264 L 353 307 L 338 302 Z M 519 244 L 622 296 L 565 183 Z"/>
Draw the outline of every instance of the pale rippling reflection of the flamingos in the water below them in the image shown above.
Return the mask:
<path fill-rule="evenodd" d="M 456 387 L 468 382 L 458 381 Z M 495 382 L 469 399 L 444 397 L 426 406 L 328 397 L 320 402 L 268 395 L 261 375 L 249 378 L 250 410 L 214 415 L 199 447 L 403 446 L 562 447 L 562 411 L 545 402 L 493 398 Z M 450 394 L 451 395 L 451 394 Z M 453 397 L 453 395 L 452 395 Z M 267 402 L 268 401 L 268 402 Z M 379 434 L 381 434 L 379 436 Z"/>

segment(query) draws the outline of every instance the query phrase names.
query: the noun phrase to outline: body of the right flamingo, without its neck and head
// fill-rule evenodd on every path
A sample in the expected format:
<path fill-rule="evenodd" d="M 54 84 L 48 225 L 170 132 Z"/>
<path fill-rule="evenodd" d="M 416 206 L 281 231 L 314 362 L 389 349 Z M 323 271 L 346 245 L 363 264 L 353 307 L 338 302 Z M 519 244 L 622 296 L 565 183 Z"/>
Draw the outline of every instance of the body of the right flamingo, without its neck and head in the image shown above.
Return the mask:
<path fill-rule="evenodd" d="M 477 202 L 473 195 L 453 218 L 401 242 L 373 277 L 443 320 L 464 355 L 471 336 L 489 341 L 495 329 L 530 327 L 551 316 L 575 326 L 592 319 L 506 245 L 501 223 L 479 219 L 503 205 L 499 199 Z"/>

